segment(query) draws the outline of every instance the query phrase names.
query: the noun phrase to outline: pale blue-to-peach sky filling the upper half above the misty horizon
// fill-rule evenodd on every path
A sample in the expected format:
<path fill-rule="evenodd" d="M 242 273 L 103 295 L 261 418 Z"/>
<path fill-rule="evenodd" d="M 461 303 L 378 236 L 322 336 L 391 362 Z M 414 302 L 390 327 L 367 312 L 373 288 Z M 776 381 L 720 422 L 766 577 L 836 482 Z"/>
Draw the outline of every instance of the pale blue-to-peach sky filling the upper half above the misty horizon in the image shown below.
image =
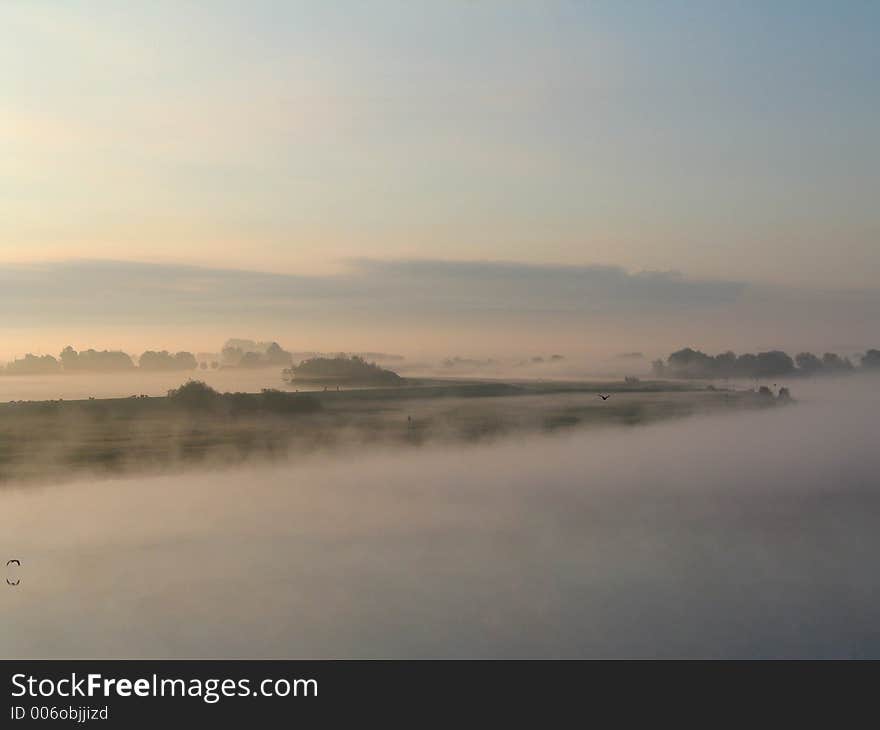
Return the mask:
<path fill-rule="evenodd" d="M 833 317 L 788 305 L 774 321 L 792 341 L 861 343 L 880 315 L 878 29 L 867 0 L 9 0 L 0 269 L 24 292 L 0 356 L 63 344 L 102 287 L 144 300 L 143 272 L 188 267 L 282 277 L 285 302 L 322 289 L 317 309 L 287 312 L 313 324 L 369 304 L 365 279 L 387 292 L 389 276 L 412 289 L 442 270 L 449 301 L 465 271 L 487 277 L 480 292 L 498 276 L 527 288 L 484 301 L 488 317 L 533 312 L 557 275 L 614 270 L 640 294 L 579 285 L 542 311 L 669 313 L 678 286 L 699 319 L 715 282 L 712 306 L 833 300 Z M 91 290 L 68 276 L 84 269 Z M 334 288 L 353 272 L 356 291 Z M 65 282 L 67 305 L 34 294 Z M 238 301 L 242 328 L 265 321 Z M 125 320 L 132 306 L 88 322 L 112 339 L 119 320 L 199 320 Z M 733 339 L 761 339 L 725 316 Z"/>

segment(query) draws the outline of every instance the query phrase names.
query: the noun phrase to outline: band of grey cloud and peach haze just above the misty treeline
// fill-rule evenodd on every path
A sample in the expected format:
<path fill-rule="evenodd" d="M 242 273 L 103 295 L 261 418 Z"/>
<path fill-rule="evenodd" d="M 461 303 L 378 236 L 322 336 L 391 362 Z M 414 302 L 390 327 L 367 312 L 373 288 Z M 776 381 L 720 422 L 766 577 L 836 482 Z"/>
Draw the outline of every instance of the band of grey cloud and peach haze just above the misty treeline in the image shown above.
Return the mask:
<path fill-rule="evenodd" d="M 880 292 L 498 261 L 357 259 L 302 275 L 73 260 L 0 267 L 0 311 L 6 357 L 73 340 L 211 347 L 231 332 L 300 349 L 446 355 L 654 357 L 684 346 L 797 352 L 841 342 L 853 354 L 877 346 Z"/>

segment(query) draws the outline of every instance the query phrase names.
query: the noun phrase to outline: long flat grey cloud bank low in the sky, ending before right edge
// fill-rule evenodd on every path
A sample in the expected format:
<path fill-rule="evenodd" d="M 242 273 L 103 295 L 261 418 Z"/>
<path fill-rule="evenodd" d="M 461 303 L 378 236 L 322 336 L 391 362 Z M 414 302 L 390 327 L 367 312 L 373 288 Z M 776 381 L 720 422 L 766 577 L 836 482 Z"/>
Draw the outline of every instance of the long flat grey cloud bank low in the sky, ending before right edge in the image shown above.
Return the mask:
<path fill-rule="evenodd" d="M 22 321 L 222 318 L 230 311 L 626 313 L 687 311 L 735 302 L 745 285 L 675 272 L 631 274 L 611 266 L 509 262 L 355 260 L 335 275 L 302 276 L 124 261 L 7 265 L 0 306 Z"/>

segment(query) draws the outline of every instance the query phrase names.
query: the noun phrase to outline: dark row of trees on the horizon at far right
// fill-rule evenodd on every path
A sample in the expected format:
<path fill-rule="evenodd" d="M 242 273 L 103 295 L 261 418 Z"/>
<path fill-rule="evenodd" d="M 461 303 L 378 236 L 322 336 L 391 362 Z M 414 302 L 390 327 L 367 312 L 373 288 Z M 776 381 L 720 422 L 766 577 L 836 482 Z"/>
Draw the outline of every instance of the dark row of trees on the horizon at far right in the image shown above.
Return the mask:
<path fill-rule="evenodd" d="M 736 355 L 723 352 L 707 355 L 685 347 L 673 352 L 666 362 L 651 364 L 661 378 L 780 378 L 791 375 L 839 375 L 857 368 L 848 357 L 826 352 L 822 357 L 811 352 L 798 353 L 794 359 L 781 350 Z M 880 370 L 880 351 L 868 350 L 861 358 L 864 370 Z"/>

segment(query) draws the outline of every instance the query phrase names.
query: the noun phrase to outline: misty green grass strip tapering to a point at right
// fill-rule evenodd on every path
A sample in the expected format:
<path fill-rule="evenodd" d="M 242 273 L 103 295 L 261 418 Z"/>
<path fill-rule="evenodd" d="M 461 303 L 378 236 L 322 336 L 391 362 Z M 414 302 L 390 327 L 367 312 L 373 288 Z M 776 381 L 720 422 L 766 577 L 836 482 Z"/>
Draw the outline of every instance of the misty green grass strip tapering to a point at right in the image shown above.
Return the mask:
<path fill-rule="evenodd" d="M 443 380 L 225 394 L 209 405 L 164 397 L 19 401 L 0 404 L 0 482 L 219 467 L 394 444 L 478 443 L 755 405 L 747 393 L 680 383 Z"/>

